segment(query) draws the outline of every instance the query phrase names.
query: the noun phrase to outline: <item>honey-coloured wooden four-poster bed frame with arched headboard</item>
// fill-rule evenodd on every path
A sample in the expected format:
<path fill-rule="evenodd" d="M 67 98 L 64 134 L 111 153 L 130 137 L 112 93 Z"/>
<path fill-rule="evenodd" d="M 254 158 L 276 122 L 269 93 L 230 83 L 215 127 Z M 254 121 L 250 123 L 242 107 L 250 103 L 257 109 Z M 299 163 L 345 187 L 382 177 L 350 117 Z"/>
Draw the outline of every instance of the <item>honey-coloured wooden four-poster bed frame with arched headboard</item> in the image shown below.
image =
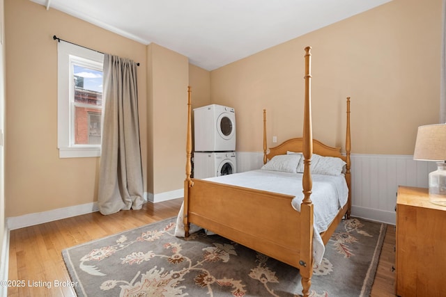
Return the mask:
<path fill-rule="evenodd" d="M 302 276 L 302 294 L 309 296 L 313 273 L 313 203 L 312 176 L 309 170 L 312 153 L 336 156 L 346 161 L 348 202 L 339 211 L 328 230 L 321 234 L 326 244 L 344 216 L 351 209 L 351 138 L 350 97 L 347 98 L 346 156 L 341 148 L 330 147 L 312 138 L 310 66 L 311 47 L 305 48 L 305 114 L 302 138 L 293 138 L 266 152 L 266 111 L 263 111 L 263 163 L 286 151 L 303 152 L 305 170 L 302 177 L 304 199 L 300 212 L 291 206 L 294 196 L 259 191 L 240 186 L 229 186 L 191 178 L 192 125 L 191 88 L 187 90 L 187 161 L 184 184 L 185 236 L 189 224 L 194 223 L 258 252 L 278 259 L 299 269 Z M 261 201 L 261 203 L 259 203 Z M 274 209 L 274 211 L 271 211 Z"/>

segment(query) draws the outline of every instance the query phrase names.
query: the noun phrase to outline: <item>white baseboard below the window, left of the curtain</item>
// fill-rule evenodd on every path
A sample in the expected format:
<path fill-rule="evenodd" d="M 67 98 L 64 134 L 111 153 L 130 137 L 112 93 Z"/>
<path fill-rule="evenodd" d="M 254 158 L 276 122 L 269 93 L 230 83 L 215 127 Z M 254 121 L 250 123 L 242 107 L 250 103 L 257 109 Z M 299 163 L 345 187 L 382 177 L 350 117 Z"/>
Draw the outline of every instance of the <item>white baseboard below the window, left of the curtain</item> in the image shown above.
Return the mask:
<path fill-rule="evenodd" d="M 75 205 L 72 207 L 63 207 L 60 209 L 52 209 L 49 211 L 37 212 L 34 214 L 25 214 L 23 216 L 13 216 L 6 218 L 6 226 L 8 230 L 20 229 L 42 223 L 51 222 L 53 220 L 61 220 L 72 216 L 80 216 L 82 214 L 90 214 L 98 211 L 98 202 Z"/>

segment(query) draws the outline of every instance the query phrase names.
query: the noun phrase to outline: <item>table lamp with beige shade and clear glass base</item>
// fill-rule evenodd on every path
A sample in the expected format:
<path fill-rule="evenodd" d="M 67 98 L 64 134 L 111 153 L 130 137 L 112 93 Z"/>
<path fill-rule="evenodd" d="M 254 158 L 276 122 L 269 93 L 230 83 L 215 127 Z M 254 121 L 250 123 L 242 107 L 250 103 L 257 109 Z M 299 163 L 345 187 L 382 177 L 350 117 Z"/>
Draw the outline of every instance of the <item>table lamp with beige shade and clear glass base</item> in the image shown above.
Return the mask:
<path fill-rule="evenodd" d="M 429 173 L 429 200 L 446 207 L 446 124 L 418 127 L 413 159 L 437 161 Z"/>

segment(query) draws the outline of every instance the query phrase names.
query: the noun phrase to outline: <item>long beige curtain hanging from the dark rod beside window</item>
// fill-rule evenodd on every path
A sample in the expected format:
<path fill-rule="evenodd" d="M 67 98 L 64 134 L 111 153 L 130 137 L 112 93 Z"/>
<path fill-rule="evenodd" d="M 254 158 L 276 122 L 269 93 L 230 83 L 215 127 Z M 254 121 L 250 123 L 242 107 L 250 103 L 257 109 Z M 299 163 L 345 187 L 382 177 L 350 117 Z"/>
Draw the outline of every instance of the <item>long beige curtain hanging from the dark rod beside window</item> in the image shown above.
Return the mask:
<path fill-rule="evenodd" d="M 103 89 L 99 210 L 101 214 L 114 214 L 121 209 L 141 209 L 144 190 L 136 63 L 105 54 Z"/>

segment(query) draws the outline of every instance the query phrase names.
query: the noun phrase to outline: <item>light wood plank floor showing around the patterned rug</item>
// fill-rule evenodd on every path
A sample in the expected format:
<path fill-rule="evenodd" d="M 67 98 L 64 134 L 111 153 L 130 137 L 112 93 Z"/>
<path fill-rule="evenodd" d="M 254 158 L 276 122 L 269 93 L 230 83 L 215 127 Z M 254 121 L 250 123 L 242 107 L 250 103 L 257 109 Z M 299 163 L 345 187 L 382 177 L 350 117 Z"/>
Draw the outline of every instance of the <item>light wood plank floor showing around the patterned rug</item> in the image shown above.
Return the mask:
<path fill-rule="evenodd" d="M 146 203 L 138 211 L 102 216 L 98 212 L 25 227 L 10 232 L 9 280 L 24 280 L 24 287 L 8 288 L 8 296 L 76 296 L 70 287 L 39 287 L 54 280 L 70 281 L 61 251 L 178 214 L 183 199 Z M 388 226 L 371 296 L 394 295 L 394 226 Z M 39 283 L 40 281 L 40 283 Z M 35 284 L 30 287 L 28 282 Z"/>

